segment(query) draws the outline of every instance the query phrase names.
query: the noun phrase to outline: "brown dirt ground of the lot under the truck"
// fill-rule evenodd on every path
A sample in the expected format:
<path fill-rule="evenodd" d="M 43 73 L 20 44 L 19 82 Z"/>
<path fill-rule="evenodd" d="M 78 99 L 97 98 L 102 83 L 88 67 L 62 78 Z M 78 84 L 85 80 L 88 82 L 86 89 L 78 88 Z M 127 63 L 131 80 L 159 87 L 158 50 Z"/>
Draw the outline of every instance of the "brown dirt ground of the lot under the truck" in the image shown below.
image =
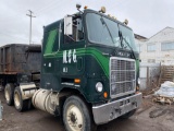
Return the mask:
<path fill-rule="evenodd" d="M 17 112 L 12 106 L 7 106 L 3 93 L 0 92 L 3 120 L 0 121 L 0 131 L 64 131 L 58 117 L 53 117 L 38 109 Z M 99 126 L 98 131 L 173 131 L 174 106 L 159 105 L 145 98 L 136 115 L 127 120 L 116 119 Z"/>

